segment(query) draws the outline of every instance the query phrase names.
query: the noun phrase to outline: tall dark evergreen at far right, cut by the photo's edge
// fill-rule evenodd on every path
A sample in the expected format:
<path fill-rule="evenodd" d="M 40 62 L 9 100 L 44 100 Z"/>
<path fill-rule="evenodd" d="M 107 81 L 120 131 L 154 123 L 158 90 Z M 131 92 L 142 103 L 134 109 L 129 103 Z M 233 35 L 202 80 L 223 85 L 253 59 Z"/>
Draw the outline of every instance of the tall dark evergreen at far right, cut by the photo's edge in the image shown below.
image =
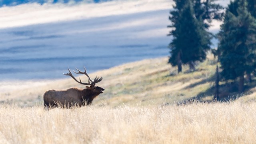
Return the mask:
<path fill-rule="evenodd" d="M 236 6 L 238 6 L 237 9 Z M 239 90 L 244 90 L 244 74 L 255 70 L 255 18 L 247 9 L 246 0 L 231 2 L 219 33 L 220 63 L 226 80 L 240 78 Z"/>

